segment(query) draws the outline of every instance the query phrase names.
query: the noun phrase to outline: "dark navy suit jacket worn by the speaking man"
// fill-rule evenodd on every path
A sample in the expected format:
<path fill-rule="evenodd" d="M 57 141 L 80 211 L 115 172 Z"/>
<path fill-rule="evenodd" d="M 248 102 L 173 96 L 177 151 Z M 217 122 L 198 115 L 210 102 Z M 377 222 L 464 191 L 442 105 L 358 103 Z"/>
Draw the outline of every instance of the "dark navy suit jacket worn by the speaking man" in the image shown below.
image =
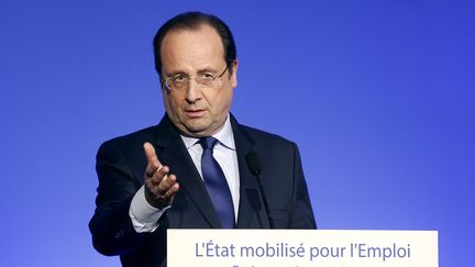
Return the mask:
<path fill-rule="evenodd" d="M 268 229 L 268 218 L 256 178 L 245 155 L 256 152 L 261 179 L 277 229 L 316 229 L 296 144 L 279 136 L 231 124 L 240 171 L 236 227 Z M 158 159 L 170 167 L 180 185 L 174 203 L 153 233 L 136 233 L 129 216 L 134 193 L 142 187 L 146 159 L 143 143 L 155 146 Z M 89 223 L 92 243 L 104 255 L 120 255 L 123 266 L 166 266 L 167 229 L 218 229 L 220 221 L 179 132 L 165 115 L 157 126 L 117 137 L 97 155 L 97 209 Z M 179 248 L 177 248 L 179 249 Z"/>

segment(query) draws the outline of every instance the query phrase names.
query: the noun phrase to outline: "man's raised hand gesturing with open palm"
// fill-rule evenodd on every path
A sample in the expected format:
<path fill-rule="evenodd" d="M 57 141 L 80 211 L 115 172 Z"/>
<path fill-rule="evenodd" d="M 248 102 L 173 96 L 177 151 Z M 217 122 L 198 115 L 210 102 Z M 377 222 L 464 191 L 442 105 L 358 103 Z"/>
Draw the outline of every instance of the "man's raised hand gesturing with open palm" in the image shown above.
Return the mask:
<path fill-rule="evenodd" d="M 147 160 L 144 174 L 145 199 L 151 205 L 163 209 L 172 204 L 179 185 L 175 175 L 168 175 L 169 168 L 158 160 L 153 145 L 146 142 L 143 147 Z"/>

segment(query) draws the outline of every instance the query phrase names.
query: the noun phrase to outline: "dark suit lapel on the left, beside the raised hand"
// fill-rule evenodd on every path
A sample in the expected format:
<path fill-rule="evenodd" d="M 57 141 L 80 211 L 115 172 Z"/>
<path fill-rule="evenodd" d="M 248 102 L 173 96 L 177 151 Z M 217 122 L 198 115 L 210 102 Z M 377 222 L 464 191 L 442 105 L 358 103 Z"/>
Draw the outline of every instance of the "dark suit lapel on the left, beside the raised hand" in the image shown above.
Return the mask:
<path fill-rule="evenodd" d="M 188 151 L 178 133 L 165 115 L 157 127 L 156 146 L 159 147 L 158 158 L 170 168 L 180 185 L 180 190 L 187 193 L 196 208 L 211 227 L 221 227 L 221 222 L 214 211 L 205 183 L 192 163 Z"/>

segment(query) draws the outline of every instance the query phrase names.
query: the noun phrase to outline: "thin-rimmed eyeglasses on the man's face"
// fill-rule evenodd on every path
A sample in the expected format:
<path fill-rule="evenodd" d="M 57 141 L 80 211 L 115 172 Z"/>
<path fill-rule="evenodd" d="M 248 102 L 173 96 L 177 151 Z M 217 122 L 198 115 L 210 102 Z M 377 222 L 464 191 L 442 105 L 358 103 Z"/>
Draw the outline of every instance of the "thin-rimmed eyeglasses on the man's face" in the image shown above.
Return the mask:
<path fill-rule="evenodd" d="M 181 90 L 189 86 L 190 79 L 195 79 L 195 81 L 202 87 L 216 87 L 221 81 L 221 77 L 227 70 L 228 66 L 220 75 L 209 71 L 199 74 L 197 76 L 179 74 L 166 78 L 165 85 L 168 90 Z"/>

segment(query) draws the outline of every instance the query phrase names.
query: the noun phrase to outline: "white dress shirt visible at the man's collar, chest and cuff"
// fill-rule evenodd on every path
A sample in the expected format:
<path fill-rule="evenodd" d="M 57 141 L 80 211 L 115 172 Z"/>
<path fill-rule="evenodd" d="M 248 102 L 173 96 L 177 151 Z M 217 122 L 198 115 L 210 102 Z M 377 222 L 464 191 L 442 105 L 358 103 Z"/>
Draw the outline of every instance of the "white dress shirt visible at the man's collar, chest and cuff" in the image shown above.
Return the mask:
<path fill-rule="evenodd" d="M 238 220 L 239 201 L 240 201 L 240 179 L 239 179 L 239 167 L 238 167 L 238 154 L 234 144 L 234 135 L 231 127 L 230 116 L 224 122 L 224 126 L 216 134 L 212 135 L 219 142 L 213 148 L 213 157 L 221 166 L 224 173 L 228 185 L 230 187 L 231 197 L 234 205 L 234 218 Z M 181 140 L 201 176 L 201 154 L 202 147 L 198 143 L 199 138 L 187 137 L 181 135 Z M 179 182 L 180 177 L 177 177 Z M 172 203 L 173 205 L 173 203 Z M 145 189 L 142 186 L 139 191 L 135 192 L 131 207 L 129 209 L 129 215 L 132 220 L 132 224 L 136 232 L 153 232 L 158 226 L 158 219 L 169 207 L 161 210 L 152 207 L 145 199 Z"/>

